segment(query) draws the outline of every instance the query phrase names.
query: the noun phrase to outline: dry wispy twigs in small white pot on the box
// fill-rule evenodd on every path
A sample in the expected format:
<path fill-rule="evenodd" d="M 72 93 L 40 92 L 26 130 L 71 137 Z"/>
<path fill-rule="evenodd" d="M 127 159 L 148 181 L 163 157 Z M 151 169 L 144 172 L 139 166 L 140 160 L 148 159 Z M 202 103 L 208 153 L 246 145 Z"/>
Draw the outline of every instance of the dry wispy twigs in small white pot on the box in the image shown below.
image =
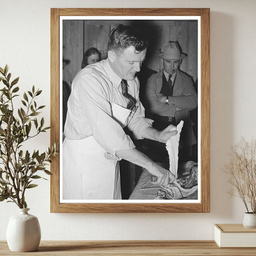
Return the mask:
<path fill-rule="evenodd" d="M 246 212 L 242 224 L 245 228 L 256 228 L 256 140 L 247 142 L 241 138 L 232 147 L 229 164 L 223 170 L 230 176 L 230 183 L 236 189 L 231 196 L 238 196 Z"/>

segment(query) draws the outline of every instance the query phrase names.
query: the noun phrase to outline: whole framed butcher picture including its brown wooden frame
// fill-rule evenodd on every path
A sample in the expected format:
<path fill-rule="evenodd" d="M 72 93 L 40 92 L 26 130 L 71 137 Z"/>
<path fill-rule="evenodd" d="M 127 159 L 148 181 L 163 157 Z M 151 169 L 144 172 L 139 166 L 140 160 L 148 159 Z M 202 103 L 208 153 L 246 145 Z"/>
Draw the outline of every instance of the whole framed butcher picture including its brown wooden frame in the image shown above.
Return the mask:
<path fill-rule="evenodd" d="M 51 212 L 210 211 L 209 22 L 206 8 L 51 9 Z M 167 143 L 148 135 L 170 124 Z"/>

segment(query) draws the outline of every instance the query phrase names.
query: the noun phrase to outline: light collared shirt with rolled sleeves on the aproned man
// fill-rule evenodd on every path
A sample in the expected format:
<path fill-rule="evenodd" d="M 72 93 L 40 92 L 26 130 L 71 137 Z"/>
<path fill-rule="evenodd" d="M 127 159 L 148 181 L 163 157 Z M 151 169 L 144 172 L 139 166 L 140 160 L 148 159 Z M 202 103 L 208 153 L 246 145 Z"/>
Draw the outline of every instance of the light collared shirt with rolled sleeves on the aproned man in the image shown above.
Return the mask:
<path fill-rule="evenodd" d="M 132 113 L 127 127 L 135 138 L 143 138 L 142 132 L 151 126 L 145 118 L 145 110 L 138 98 L 139 82 L 135 78 L 128 82 L 128 92 L 137 101 L 137 110 Z M 121 78 L 114 73 L 108 59 L 87 66 L 79 71 L 72 83 L 68 100 L 65 136 L 79 140 L 94 136 L 108 153 L 116 155 L 118 150 L 135 148 L 121 125 L 113 118 L 111 104 L 126 108 L 127 98 L 122 95 Z"/>

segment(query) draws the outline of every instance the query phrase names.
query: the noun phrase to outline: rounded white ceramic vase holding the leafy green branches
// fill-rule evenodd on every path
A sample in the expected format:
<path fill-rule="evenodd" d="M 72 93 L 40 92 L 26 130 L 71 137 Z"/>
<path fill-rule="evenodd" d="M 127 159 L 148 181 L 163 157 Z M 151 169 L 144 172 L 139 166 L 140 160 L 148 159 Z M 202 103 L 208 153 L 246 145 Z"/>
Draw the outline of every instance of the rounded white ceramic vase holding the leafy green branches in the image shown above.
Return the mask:
<path fill-rule="evenodd" d="M 30 209 L 19 209 L 20 214 L 10 217 L 6 239 L 12 252 L 33 252 L 38 249 L 41 229 L 38 218 L 28 214 Z"/>

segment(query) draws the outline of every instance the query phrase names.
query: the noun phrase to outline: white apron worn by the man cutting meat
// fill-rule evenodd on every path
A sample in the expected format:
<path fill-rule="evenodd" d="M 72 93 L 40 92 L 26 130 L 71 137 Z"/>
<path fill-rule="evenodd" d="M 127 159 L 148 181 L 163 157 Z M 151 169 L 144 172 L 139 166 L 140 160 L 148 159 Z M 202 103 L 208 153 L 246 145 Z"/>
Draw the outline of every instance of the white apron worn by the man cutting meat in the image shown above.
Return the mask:
<path fill-rule="evenodd" d="M 127 126 L 130 110 L 112 103 L 113 118 Z M 63 142 L 63 199 L 122 199 L 119 162 L 93 136 Z"/>

